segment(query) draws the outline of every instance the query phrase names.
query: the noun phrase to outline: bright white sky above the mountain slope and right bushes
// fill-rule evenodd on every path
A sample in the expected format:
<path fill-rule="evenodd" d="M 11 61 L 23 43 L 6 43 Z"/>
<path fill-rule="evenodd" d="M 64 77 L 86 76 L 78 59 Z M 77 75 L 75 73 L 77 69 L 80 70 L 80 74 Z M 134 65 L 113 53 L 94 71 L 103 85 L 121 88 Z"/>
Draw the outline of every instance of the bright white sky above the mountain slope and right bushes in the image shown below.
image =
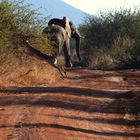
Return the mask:
<path fill-rule="evenodd" d="M 97 14 L 99 10 L 123 8 L 140 8 L 140 0 L 62 0 L 89 14 Z"/>

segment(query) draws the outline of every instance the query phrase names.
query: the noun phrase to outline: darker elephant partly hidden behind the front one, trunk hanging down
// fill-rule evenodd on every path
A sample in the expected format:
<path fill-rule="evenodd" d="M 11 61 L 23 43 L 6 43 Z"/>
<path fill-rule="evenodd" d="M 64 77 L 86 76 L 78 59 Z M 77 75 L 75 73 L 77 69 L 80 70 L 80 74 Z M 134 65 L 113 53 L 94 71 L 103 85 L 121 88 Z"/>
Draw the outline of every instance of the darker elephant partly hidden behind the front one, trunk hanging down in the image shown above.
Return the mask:
<path fill-rule="evenodd" d="M 55 25 L 59 25 L 59 26 L 63 27 L 64 29 L 66 29 L 66 21 L 67 21 L 66 17 L 63 17 L 63 19 L 53 18 L 53 19 L 49 20 L 48 26 L 51 26 L 52 24 L 55 24 Z M 74 25 L 74 23 L 70 20 L 69 20 L 69 27 L 70 27 L 70 30 L 71 30 L 70 31 L 71 32 L 71 38 L 74 38 L 76 40 L 76 54 L 77 54 L 77 57 L 80 61 L 81 60 L 80 38 L 82 38 L 82 36 L 80 35 L 80 33 L 79 33 L 78 29 L 76 28 L 76 26 Z"/>

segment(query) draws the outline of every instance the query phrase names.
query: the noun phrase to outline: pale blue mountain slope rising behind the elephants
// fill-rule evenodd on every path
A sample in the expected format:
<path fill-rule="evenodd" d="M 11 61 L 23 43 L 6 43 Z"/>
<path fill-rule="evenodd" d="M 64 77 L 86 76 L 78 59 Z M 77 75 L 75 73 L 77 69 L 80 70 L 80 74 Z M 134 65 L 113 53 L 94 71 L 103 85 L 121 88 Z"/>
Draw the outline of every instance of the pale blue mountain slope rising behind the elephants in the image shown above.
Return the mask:
<path fill-rule="evenodd" d="M 63 18 L 67 16 L 76 25 L 83 22 L 87 15 L 85 12 L 63 2 L 62 0 L 26 0 L 27 3 L 33 4 L 34 8 L 41 7 L 40 12 L 50 18 Z"/>

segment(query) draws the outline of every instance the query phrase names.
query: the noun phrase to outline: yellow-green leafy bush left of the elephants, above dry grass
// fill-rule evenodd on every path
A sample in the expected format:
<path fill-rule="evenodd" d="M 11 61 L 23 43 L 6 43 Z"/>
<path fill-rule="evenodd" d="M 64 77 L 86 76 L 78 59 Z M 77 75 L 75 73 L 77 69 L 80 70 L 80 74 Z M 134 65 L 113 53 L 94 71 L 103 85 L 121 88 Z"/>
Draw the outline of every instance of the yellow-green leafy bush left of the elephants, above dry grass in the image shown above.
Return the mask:
<path fill-rule="evenodd" d="M 47 38 L 41 34 L 47 17 L 42 17 L 38 9 L 33 10 L 30 6 L 24 0 L 0 1 L 0 63 L 9 60 L 10 56 L 11 59 L 23 56 L 25 37 L 35 40 L 38 48 L 48 46 Z"/>

